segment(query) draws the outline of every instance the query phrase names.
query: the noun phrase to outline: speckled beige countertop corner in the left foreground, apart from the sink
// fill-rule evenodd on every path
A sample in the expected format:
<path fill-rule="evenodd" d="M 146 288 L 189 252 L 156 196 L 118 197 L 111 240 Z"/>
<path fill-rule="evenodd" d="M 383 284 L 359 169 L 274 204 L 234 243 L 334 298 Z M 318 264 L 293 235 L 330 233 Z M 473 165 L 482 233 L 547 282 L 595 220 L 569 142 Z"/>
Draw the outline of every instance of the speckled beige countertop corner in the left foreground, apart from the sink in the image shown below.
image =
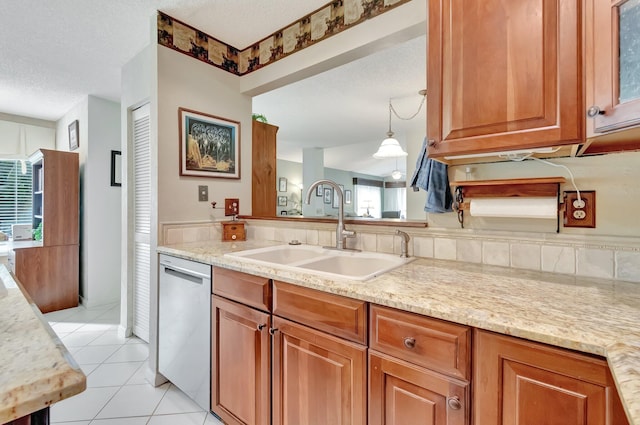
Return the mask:
<path fill-rule="evenodd" d="M 86 377 L 22 294 L 6 267 L 0 280 L 0 423 L 28 415 L 84 391 Z"/>

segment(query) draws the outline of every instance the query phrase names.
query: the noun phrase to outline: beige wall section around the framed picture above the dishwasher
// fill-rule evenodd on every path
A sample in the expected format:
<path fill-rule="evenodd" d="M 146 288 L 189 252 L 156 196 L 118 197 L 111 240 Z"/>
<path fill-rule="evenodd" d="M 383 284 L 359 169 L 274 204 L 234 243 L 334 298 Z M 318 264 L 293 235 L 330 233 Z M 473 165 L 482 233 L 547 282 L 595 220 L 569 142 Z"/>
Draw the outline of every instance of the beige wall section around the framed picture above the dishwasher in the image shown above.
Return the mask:
<path fill-rule="evenodd" d="M 238 77 L 158 46 L 158 221 L 224 219 L 225 198 L 239 198 L 240 214 L 251 213 L 251 98 L 240 94 Z M 178 108 L 240 122 L 240 179 L 180 176 Z M 198 201 L 198 185 L 209 201 Z"/>

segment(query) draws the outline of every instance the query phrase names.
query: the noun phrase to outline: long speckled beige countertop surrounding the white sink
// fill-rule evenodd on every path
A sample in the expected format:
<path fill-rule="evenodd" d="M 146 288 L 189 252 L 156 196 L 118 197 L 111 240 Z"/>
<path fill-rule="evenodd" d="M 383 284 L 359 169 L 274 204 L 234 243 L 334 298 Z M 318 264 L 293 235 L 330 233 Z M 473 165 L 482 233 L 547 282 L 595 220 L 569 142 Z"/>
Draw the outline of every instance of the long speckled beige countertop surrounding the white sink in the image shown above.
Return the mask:
<path fill-rule="evenodd" d="M 224 256 L 276 244 L 206 242 L 158 251 L 606 357 L 627 416 L 640 425 L 640 284 L 425 258 L 358 282 Z"/>

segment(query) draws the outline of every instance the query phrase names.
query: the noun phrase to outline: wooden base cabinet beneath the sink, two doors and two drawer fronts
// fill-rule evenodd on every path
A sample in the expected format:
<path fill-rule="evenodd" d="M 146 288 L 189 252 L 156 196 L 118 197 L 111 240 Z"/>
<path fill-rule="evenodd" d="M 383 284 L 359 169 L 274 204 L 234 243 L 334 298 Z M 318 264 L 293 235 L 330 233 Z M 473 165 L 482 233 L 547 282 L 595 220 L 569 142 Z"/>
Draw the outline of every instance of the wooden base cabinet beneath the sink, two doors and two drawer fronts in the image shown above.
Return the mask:
<path fill-rule="evenodd" d="M 365 302 L 214 267 L 212 306 L 225 423 L 366 424 Z"/>

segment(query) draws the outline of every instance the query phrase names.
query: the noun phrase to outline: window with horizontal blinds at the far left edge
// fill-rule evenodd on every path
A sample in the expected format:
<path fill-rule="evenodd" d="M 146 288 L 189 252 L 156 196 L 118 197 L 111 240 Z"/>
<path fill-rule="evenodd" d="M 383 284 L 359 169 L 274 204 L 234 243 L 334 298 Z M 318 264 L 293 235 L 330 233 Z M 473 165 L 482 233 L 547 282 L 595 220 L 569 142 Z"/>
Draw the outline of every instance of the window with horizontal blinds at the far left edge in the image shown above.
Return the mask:
<path fill-rule="evenodd" d="M 12 224 L 31 224 L 31 184 L 29 162 L 0 159 L 0 231 L 9 236 Z"/>

